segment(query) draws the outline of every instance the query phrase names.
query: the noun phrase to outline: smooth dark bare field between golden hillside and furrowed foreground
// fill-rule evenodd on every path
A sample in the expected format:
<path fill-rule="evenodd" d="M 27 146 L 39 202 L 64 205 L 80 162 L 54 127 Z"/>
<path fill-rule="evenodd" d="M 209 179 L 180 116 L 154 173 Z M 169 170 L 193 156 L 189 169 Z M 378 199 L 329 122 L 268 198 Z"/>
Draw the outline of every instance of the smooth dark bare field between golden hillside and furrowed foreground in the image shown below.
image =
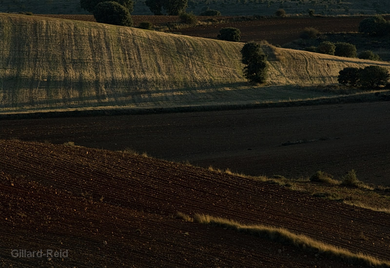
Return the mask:
<path fill-rule="evenodd" d="M 323 170 L 340 178 L 355 169 L 366 183 L 390 186 L 389 110 L 389 102 L 378 102 L 5 120 L 0 139 L 130 147 L 157 158 L 250 175 L 296 178 Z"/>

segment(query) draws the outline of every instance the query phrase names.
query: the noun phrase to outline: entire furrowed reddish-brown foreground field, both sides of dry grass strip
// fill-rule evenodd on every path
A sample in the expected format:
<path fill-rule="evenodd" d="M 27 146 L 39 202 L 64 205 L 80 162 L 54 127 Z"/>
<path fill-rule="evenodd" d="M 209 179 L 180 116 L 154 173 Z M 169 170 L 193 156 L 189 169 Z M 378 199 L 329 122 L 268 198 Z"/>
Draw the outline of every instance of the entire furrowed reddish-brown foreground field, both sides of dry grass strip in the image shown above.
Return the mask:
<path fill-rule="evenodd" d="M 186 223 L 170 216 L 176 211 L 286 227 L 354 252 L 390 256 L 389 214 L 112 151 L 0 141 L 0 187 L 3 266 L 347 266 L 315 251 Z M 82 196 L 87 191 L 91 198 Z M 12 258 L 15 248 L 68 249 L 69 256 Z"/>

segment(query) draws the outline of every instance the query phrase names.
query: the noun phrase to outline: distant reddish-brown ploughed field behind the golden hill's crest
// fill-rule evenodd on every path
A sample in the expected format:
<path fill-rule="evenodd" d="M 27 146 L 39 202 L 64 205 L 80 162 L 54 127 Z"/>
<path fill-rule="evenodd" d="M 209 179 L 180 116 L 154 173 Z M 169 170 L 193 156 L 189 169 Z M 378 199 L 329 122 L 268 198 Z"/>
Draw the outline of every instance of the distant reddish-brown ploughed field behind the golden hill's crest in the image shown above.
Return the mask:
<path fill-rule="evenodd" d="M 93 15 L 39 15 L 70 20 L 95 21 Z M 141 21 L 150 21 L 154 25 L 178 22 L 177 16 L 132 16 L 134 25 Z M 219 17 L 232 19 L 232 17 Z M 204 17 L 201 19 L 205 19 Z M 364 17 L 313 17 L 313 18 L 265 18 L 258 21 L 232 21 L 213 25 L 189 27 L 178 30 L 183 35 L 216 39 L 219 30 L 224 27 L 236 27 L 241 30 L 241 41 L 267 40 L 272 44 L 284 44 L 299 38 L 306 27 L 315 27 L 321 32 L 356 32 Z"/>

